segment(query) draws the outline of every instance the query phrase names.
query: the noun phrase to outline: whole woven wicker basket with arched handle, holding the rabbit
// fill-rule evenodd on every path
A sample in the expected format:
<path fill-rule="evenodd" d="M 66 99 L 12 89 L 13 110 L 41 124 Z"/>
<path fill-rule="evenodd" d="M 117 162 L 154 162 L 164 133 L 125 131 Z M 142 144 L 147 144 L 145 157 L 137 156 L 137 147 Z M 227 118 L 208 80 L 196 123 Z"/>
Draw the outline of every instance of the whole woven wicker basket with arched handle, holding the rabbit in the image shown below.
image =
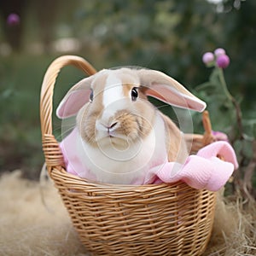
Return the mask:
<path fill-rule="evenodd" d="M 67 65 L 96 73 L 87 61 L 73 55 L 61 56 L 49 66 L 41 91 L 42 140 L 49 176 L 84 246 L 93 255 L 201 255 L 211 236 L 215 193 L 182 182 L 93 183 L 66 172 L 51 115 L 55 79 Z M 194 151 L 212 140 L 207 119 L 204 125 L 205 136 L 187 135 Z"/>

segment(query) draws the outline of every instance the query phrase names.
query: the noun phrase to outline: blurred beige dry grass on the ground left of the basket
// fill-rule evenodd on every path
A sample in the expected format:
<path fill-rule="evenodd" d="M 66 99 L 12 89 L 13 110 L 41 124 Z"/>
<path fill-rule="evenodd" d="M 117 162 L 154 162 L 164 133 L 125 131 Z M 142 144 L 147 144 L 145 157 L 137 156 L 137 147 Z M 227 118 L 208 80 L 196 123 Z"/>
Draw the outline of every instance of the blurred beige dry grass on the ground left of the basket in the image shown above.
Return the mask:
<path fill-rule="evenodd" d="M 51 212 L 20 172 L 3 175 L 0 187 L 0 255 L 86 255 L 52 184 L 44 188 Z"/>

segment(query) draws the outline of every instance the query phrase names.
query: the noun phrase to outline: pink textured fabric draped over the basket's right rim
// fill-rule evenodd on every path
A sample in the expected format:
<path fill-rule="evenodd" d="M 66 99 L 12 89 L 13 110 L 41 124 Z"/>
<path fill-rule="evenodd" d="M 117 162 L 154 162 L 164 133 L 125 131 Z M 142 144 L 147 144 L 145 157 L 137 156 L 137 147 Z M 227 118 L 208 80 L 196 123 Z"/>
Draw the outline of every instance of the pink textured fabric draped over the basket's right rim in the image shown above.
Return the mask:
<path fill-rule="evenodd" d="M 219 160 L 217 155 L 224 160 Z M 176 165 L 176 166 L 175 166 Z M 212 143 L 196 155 L 189 155 L 184 165 L 168 162 L 161 169 L 149 170 L 144 183 L 174 183 L 179 180 L 194 189 L 218 191 L 238 167 L 234 149 L 226 142 Z"/>

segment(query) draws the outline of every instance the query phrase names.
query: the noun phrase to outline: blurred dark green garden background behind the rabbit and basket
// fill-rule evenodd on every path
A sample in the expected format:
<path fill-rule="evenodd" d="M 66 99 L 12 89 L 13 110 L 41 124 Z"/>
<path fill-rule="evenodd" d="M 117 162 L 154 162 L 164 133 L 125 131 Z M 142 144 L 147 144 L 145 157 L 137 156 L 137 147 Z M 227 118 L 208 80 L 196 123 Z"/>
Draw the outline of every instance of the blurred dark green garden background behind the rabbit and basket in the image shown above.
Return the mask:
<path fill-rule="evenodd" d="M 197 90 L 212 72 L 201 56 L 222 47 L 230 56 L 224 70 L 229 90 L 241 103 L 248 137 L 255 137 L 255 11 L 252 0 L 1 0 L 0 171 L 21 169 L 38 179 L 44 163 L 41 83 L 49 63 L 66 54 L 83 56 L 96 69 L 140 66 L 165 72 L 209 100 L 214 130 L 236 134 L 236 119 L 218 105 L 223 93 L 212 90 L 207 98 Z M 83 77 L 73 67 L 63 69 L 55 106 Z M 195 132 L 201 132 L 198 120 L 195 116 Z M 58 136 L 61 123 L 55 118 L 54 130 Z M 241 163 L 255 164 L 252 139 L 245 144 Z"/>

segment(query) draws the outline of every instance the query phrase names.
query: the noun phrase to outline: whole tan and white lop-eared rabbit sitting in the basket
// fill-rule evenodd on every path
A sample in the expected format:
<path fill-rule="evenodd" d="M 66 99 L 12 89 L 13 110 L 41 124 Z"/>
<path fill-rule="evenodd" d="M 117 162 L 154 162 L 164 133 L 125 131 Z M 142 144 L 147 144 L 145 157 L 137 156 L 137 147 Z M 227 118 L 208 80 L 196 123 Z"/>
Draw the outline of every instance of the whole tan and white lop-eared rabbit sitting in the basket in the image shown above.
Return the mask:
<path fill-rule="evenodd" d="M 103 69 L 67 92 L 56 115 L 76 115 L 77 135 L 69 138 L 75 149 L 69 152 L 81 167 L 74 173 L 90 172 L 100 183 L 141 184 L 154 166 L 184 163 L 189 149 L 183 132 L 148 96 L 198 112 L 206 108 L 175 79 L 143 68 Z"/>

